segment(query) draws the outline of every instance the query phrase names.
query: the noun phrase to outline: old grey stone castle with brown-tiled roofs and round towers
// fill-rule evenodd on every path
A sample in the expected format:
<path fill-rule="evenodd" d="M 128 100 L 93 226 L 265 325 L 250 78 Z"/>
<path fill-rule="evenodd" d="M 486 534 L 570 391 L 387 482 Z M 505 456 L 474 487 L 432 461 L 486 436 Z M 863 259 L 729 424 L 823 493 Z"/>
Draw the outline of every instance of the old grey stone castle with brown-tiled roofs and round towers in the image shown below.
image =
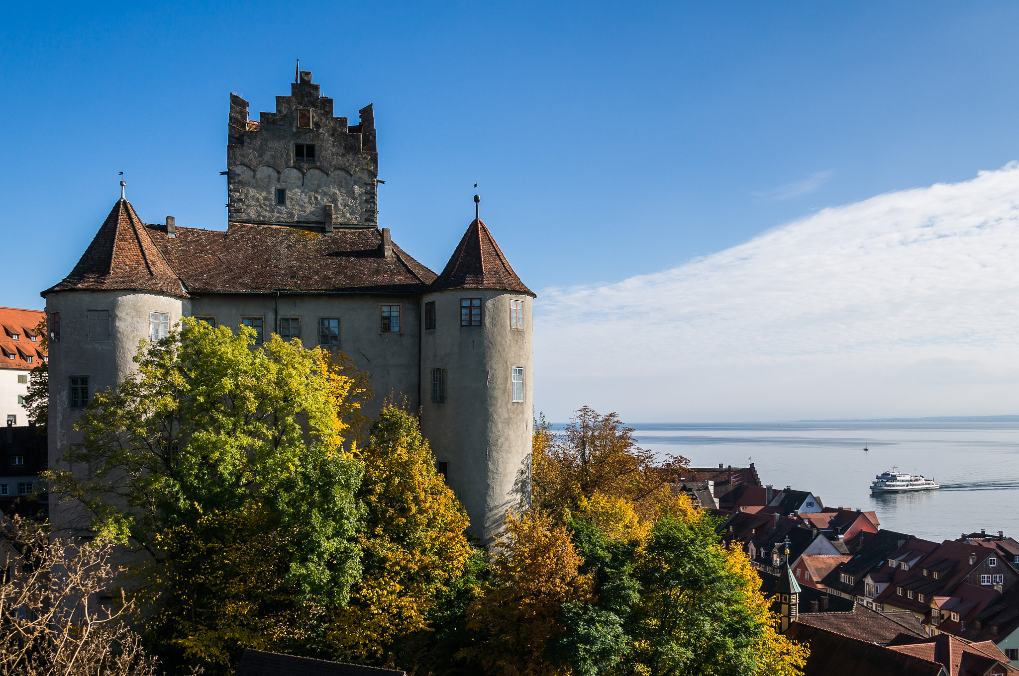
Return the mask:
<path fill-rule="evenodd" d="M 81 442 L 90 397 L 133 370 L 140 339 L 182 317 L 245 325 L 259 341 L 345 352 L 371 374 L 369 413 L 390 391 L 420 408 L 439 471 L 487 541 L 529 500 L 535 294 L 478 218 L 439 275 L 393 243 L 378 227 L 372 106 L 356 125 L 332 113 L 308 71 L 258 121 L 230 95 L 227 230 L 143 223 L 121 194 L 42 292 L 50 466 Z"/>

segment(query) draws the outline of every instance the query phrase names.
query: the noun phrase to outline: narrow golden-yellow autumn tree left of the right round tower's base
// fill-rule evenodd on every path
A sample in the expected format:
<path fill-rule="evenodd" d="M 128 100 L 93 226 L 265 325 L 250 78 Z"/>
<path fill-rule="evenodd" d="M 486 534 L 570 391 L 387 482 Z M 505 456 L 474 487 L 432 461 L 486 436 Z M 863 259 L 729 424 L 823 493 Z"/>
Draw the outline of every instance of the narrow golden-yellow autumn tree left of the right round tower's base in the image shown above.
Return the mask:
<path fill-rule="evenodd" d="M 329 611 L 337 657 L 377 657 L 395 637 L 427 628 L 428 611 L 472 556 L 463 507 L 435 470 L 418 419 L 383 406 L 368 443 L 358 498 L 365 507 L 363 573 L 350 605 Z"/>

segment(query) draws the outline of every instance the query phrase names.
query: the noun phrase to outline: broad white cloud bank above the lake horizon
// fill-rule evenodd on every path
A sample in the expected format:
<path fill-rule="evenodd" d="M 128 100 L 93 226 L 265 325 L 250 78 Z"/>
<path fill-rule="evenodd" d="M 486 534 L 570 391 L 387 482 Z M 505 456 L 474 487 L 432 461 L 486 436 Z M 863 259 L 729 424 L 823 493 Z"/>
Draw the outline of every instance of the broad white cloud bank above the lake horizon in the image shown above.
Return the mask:
<path fill-rule="evenodd" d="M 536 405 L 632 421 L 1019 413 L 1019 165 L 546 289 Z"/>

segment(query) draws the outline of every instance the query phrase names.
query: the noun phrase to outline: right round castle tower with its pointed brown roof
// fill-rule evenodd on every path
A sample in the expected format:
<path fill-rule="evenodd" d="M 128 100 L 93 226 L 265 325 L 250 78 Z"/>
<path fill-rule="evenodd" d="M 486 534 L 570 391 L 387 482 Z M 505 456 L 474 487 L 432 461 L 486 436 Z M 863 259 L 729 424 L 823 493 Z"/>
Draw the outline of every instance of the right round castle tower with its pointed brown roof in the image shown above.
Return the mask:
<path fill-rule="evenodd" d="M 530 505 L 534 297 L 476 218 L 423 299 L 422 429 L 486 543 Z"/>

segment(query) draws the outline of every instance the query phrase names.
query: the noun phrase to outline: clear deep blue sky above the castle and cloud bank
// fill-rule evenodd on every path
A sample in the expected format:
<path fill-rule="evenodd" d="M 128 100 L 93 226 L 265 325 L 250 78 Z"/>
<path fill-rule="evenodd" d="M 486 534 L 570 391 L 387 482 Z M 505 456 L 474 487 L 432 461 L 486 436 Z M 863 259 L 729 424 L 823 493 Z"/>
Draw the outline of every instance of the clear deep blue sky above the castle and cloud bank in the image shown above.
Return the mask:
<path fill-rule="evenodd" d="M 297 58 L 338 115 L 375 104 L 380 221 L 404 248 L 441 269 L 479 182 L 539 293 L 1019 159 L 1004 2 L 22 3 L 5 18 L 5 305 L 42 306 L 118 171 L 143 219 L 225 227 L 228 94 L 273 110 Z"/>

